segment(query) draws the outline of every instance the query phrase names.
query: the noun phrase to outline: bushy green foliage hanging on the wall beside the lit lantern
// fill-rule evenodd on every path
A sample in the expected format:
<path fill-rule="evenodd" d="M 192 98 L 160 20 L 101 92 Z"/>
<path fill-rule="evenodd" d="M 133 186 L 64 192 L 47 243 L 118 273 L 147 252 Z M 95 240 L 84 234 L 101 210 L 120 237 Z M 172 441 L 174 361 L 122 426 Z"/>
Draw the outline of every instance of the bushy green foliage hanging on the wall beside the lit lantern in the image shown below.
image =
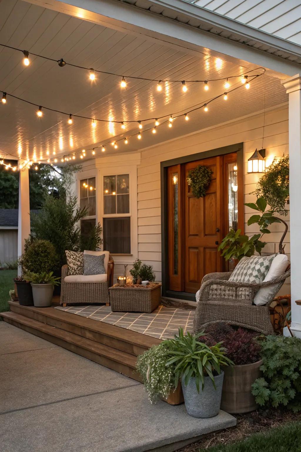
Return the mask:
<path fill-rule="evenodd" d="M 264 175 L 259 179 L 255 192 L 257 198 L 264 198 L 273 212 L 287 216 L 285 208 L 289 201 L 289 157 L 273 159 Z"/>

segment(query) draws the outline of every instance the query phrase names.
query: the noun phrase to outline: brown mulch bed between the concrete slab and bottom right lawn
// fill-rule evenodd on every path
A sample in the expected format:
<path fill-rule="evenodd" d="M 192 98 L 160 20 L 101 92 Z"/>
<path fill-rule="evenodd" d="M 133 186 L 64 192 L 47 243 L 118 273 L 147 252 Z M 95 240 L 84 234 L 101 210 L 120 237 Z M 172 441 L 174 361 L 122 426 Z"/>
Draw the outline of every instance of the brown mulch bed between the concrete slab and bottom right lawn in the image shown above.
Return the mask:
<path fill-rule="evenodd" d="M 199 452 L 200 448 L 210 451 L 210 447 L 213 446 L 237 443 L 249 438 L 254 433 L 267 432 L 287 423 L 301 421 L 301 413 L 277 409 L 261 409 L 248 414 L 236 414 L 235 417 L 237 419 L 235 427 L 225 428 L 218 433 L 210 433 L 205 438 L 183 447 L 177 452 Z M 276 444 L 275 450 L 277 448 Z"/>

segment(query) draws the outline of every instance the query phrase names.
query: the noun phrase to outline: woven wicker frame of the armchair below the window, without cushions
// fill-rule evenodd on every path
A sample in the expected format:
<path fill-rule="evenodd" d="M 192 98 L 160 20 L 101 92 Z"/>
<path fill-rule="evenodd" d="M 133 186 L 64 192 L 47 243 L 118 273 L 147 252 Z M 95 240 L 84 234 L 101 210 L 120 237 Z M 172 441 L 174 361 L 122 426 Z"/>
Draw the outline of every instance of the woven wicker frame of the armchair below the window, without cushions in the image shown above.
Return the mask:
<path fill-rule="evenodd" d="M 94 303 L 106 303 L 110 305 L 109 287 L 113 285 L 114 260 L 110 256 L 107 268 L 106 282 L 65 282 L 68 275 L 68 265 L 62 267 L 60 305 L 82 303 L 92 305 Z"/>

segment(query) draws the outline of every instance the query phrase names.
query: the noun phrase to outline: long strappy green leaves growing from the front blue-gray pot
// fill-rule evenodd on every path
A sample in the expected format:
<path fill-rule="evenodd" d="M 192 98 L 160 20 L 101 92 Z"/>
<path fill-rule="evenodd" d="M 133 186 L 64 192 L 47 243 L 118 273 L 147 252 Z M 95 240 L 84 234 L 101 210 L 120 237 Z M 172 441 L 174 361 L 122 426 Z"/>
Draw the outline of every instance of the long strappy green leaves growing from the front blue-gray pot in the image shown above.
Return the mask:
<path fill-rule="evenodd" d="M 204 333 L 202 333 L 204 334 Z M 221 366 L 233 365 L 227 358 L 226 348 L 222 347 L 222 342 L 209 347 L 199 342 L 202 334 L 192 336 L 189 332 L 184 335 L 183 329 L 179 328 L 179 336 L 174 339 L 164 341 L 172 356 L 166 363 L 167 366 L 176 364 L 175 367 L 175 387 L 181 378 L 187 386 L 190 378 L 195 378 L 195 385 L 199 392 L 200 387 L 204 389 L 204 377 L 210 377 L 216 389 L 214 376 L 219 375 Z"/>

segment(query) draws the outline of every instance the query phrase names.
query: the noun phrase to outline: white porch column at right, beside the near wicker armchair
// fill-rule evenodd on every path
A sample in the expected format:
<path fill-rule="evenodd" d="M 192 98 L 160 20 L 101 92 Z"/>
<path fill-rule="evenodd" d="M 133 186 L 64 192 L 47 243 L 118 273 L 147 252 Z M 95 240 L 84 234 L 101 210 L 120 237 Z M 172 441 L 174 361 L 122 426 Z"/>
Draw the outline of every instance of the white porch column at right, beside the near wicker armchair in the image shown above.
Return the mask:
<path fill-rule="evenodd" d="M 294 335 L 301 337 L 301 76 L 283 80 L 287 90 L 288 139 L 290 158 L 290 233 L 291 233 L 291 294 L 292 326 Z M 287 335 L 288 332 L 285 333 Z"/>

